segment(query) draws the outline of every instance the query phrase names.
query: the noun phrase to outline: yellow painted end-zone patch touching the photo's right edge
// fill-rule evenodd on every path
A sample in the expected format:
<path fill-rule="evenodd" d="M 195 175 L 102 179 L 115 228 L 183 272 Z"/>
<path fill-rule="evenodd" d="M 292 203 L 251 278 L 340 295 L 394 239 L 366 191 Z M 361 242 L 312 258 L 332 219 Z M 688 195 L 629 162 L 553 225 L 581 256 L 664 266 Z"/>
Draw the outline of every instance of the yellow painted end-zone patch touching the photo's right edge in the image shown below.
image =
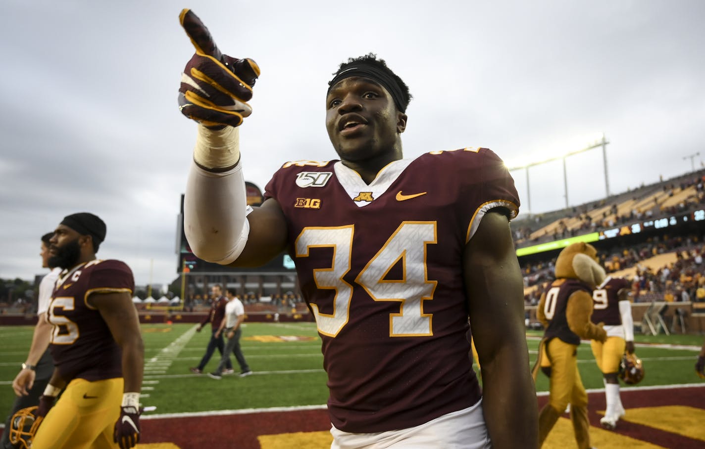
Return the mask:
<path fill-rule="evenodd" d="M 658 419 L 654 419 L 658 417 Z M 625 421 L 705 441 L 705 410 L 685 405 L 627 409 Z"/>

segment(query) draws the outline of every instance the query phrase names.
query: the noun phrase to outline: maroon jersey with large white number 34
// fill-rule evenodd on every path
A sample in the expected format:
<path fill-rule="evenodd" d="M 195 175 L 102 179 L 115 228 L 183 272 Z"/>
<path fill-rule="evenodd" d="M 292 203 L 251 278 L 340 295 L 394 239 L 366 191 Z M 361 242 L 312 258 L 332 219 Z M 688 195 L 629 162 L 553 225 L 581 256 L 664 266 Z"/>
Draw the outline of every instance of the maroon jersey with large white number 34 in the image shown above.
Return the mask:
<path fill-rule="evenodd" d="M 340 161 L 285 164 L 266 186 L 321 335 L 331 422 L 368 433 L 477 403 L 462 251 L 486 211 L 517 214 L 486 148 L 397 160 L 365 184 Z"/>

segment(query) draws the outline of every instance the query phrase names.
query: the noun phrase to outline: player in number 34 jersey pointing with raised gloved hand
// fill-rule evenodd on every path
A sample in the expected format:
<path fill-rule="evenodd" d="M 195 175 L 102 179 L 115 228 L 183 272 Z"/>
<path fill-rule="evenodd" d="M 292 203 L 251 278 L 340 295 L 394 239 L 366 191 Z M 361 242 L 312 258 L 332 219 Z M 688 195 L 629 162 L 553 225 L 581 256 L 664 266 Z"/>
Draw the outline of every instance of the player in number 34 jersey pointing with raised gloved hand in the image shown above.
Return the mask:
<path fill-rule="evenodd" d="M 249 208 L 237 126 L 259 67 L 223 55 L 191 11 L 180 20 L 196 48 L 180 110 L 199 122 L 186 236 L 223 265 L 293 258 L 322 339 L 331 447 L 537 448 L 508 225 L 519 200 L 502 160 L 486 148 L 403 159 L 409 89 L 369 54 L 342 64 L 327 89 L 340 160 L 285 163 Z"/>

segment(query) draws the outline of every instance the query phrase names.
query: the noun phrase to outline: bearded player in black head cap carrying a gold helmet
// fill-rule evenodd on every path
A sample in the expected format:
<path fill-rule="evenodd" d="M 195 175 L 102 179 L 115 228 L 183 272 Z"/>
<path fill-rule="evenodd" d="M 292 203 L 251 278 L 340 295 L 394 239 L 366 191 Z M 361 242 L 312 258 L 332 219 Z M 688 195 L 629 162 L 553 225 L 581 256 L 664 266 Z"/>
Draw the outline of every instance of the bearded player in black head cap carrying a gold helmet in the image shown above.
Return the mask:
<path fill-rule="evenodd" d="M 75 213 L 51 237 L 49 262 L 63 268 L 47 316 L 56 368 L 39 398 L 44 420 L 33 449 L 124 449 L 139 441 L 144 347 L 135 281 L 125 263 L 95 258 L 105 233 L 99 217 Z"/>

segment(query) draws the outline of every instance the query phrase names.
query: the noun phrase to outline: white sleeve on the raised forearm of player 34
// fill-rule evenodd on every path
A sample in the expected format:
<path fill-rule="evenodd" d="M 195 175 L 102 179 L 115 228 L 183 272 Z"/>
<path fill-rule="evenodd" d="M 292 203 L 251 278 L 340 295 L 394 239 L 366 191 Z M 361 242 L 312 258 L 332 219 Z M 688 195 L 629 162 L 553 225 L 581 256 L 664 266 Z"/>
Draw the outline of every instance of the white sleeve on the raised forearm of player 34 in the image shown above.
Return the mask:
<path fill-rule="evenodd" d="M 183 227 L 191 251 L 207 262 L 228 265 L 247 244 L 247 214 L 242 164 L 227 172 L 209 172 L 195 162 L 186 183 Z"/>

